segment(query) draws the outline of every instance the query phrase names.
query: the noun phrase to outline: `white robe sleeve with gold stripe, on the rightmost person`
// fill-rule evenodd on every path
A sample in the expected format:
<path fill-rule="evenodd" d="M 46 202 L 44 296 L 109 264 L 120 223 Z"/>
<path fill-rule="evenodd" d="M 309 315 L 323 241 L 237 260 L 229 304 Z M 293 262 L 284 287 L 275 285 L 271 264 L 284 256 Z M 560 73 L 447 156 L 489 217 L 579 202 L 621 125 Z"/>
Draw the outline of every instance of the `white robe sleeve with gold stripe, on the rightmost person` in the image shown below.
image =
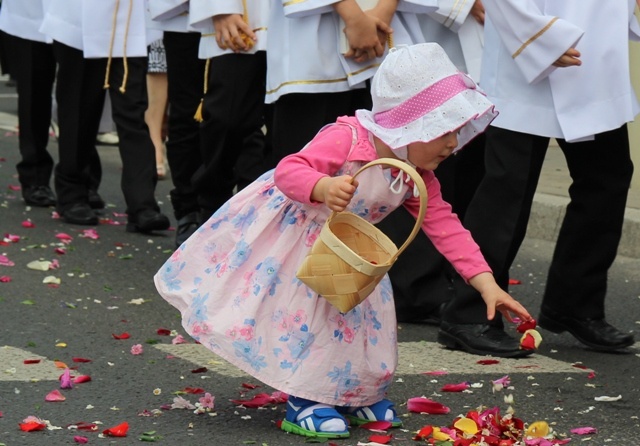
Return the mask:
<path fill-rule="evenodd" d="M 534 84 L 555 70 L 553 63 L 576 46 L 584 31 L 542 13 L 534 2 L 483 0 L 487 16 L 514 62 Z"/>

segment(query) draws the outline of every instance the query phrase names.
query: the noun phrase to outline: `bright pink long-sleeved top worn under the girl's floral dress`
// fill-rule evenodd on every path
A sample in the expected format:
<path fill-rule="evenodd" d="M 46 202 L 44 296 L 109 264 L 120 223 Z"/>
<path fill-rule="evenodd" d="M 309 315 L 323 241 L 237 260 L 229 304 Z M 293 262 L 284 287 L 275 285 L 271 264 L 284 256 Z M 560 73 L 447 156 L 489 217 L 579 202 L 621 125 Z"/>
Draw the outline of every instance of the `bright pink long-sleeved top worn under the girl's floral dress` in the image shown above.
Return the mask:
<path fill-rule="evenodd" d="M 304 150 L 278 163 L 275 183 L 292 200 L 318 205 L 312 202 L 311 192 L 321 178 L 333 176 L 347 161 L 367 163 L 380 158 L 368 130 L 355 117 L 342 117 L 337 122 L 348 125 L 326 128 Z M 351 128 L 356 128 L 357 133 L 353 150 Z M 451 205 L 442 199 L 440 182 L 434 173 L 422 169 L 418 171 L 427 186 L 427 213 L 422 222 L 422 230 L 427 237 L 465 280 L 483 272 L 491 272 L 469 231 L 462 226 Z M 403 206 L 416 218 L 420 199 L 412 196 L 403 202 Z"/>

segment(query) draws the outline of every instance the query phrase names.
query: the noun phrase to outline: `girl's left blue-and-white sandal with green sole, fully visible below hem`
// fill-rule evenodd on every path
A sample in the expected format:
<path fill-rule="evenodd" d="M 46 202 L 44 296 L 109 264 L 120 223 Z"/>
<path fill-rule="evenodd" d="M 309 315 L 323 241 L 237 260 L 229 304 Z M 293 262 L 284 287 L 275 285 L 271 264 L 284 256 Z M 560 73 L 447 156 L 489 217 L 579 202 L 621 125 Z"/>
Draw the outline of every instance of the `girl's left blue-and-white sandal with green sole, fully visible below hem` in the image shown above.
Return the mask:
<path fill-rule="evenodd" d="M 323 431 L 323 423 L 331 420 L 344 423 L 341 431 Z M 287 401 L 287 415 L 280 428 L 285 432 L 302 435 L 303 437 L 318 438 L 347 438 L 347 420 L 338 411 L 326 404 L 289 396 Z"/>

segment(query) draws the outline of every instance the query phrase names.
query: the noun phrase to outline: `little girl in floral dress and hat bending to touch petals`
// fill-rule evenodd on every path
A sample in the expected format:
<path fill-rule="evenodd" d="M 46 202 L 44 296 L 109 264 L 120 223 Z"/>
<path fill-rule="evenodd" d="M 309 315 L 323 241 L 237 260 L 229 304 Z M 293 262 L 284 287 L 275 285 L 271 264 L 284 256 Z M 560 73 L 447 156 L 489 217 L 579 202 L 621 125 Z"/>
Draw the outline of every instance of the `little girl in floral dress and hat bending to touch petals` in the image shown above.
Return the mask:
<path fill-rule="evenodd" d="M 372 83 L 373 111 L 338 119 L 219 209 L 155 276 L 186 331 L 242 370 L 289 394 L 282 429 L 347 437 L 354 424 L 391 421 L 386 400 L 397 364 L 396 318 L 385 278 L 342 314 L 296 278 L 331 211 L 377 222 L 419 197 L 401 171 L 365 163 L 389 157 L 417 166 L 428 189 L 423 230 L 496 309 L 530 320 L 501 290 L 432 170 L 484 130 L 493 105 L 437 44 L 390 52 Z M 292 123 L 294 124 L 294 123 Z M 359 183 L 359 187 L 358 187 Z"/>

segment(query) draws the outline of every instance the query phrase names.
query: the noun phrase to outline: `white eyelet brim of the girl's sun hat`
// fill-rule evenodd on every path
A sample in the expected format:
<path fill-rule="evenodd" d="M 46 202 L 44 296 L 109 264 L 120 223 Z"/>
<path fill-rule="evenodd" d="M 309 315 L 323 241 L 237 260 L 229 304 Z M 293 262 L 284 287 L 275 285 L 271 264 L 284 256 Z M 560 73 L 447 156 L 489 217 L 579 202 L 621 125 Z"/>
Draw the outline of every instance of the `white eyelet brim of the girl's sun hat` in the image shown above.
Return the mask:
<path fill-rule="evenodd" d="M 476 89 L 464 90 L 426 115 L 397 128 L 385 128 L 375 121 L 370 110 L 357 110 L 360 124 L 377 136 L 392 150 L 414 142 L 430 142 L 456 129 L 460 150 L 469 141 L 484 132 L 498 116 L 493 103 Z"/>

